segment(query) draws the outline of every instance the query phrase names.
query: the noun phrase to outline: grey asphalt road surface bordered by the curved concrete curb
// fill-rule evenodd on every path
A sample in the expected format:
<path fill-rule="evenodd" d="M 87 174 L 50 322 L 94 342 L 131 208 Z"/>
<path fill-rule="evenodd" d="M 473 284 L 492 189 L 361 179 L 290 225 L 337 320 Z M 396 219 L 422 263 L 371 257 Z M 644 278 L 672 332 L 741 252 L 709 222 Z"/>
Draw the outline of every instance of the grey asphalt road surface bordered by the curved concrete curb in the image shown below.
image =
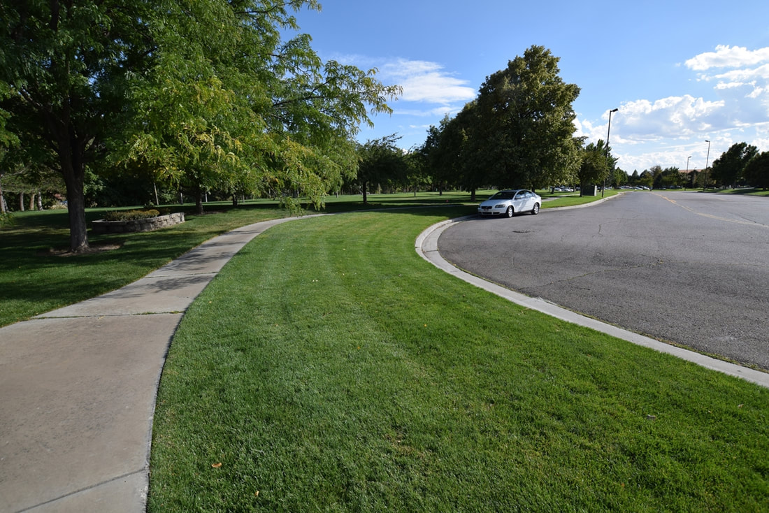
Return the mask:
<path fill-rule="evenodd" d="M 769 370 L 769 198 L 631 192 L 473 218 L 445 230 L 438 250 L 526 295 Z"/>

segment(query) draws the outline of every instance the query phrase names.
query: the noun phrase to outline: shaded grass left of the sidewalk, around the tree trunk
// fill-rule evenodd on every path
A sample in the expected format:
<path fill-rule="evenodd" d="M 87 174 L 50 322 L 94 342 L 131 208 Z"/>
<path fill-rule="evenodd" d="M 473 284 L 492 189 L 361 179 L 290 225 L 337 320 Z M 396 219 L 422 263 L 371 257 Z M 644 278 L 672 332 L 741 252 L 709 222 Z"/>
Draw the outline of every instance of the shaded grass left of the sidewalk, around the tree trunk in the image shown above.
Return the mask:
<path fill-rule="evenodd" d="M 20 212 L 0 230 L 0 325 L 115 290 L 222 232 L 286 214 L 275 205 L 217 208 L 224 215 L 187 215 L 155 232 L 89 234 L 92 247 L 115 249 L 70 256 L 58 254 L 69 246 L 66 211 Z M 102 212 L 87 211 L 89 224 Z"/>

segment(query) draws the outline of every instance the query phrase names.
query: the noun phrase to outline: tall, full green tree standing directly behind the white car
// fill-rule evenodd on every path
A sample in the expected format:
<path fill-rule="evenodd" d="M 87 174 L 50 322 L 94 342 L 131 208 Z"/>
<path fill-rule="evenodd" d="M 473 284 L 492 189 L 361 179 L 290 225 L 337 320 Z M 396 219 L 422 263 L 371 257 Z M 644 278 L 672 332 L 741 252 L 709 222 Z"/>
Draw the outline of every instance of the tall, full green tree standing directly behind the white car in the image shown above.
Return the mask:
<path fill-rule="evenodd" d="M 531 46 L 481 85 L 473 138 L 498 187 L 568 182 L 578 170 L 571 104 L 580 89 L 558 76 L 558 60 Z"/>

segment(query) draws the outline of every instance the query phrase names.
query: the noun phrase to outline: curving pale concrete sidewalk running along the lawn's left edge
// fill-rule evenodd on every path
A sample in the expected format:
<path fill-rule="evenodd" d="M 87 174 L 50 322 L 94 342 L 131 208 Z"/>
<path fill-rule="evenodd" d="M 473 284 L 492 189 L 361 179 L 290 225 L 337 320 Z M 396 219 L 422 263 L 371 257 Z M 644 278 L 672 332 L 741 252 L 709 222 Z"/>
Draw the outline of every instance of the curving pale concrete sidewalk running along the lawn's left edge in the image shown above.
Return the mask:
<path fill-rule="evenodd" d="M 0 511 L 145 511 L 155 394 L 181 316 L 232 255 L 291 219 L 0 328 Z"/>

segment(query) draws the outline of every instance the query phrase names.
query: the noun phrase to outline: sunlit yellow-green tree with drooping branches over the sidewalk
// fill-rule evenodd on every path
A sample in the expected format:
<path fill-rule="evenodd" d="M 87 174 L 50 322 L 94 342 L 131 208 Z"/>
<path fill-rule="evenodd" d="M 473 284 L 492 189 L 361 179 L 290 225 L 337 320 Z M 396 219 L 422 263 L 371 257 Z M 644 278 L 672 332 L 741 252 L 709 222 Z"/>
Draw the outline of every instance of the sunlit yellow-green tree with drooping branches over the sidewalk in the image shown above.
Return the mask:
<path fill-rule="evenodd" d="M 269 187 L 319 206 L 355 167 L 353 136 L 371 123 L 366 105 L 389 112 L 385 99 L 399 89 L 382 86 L 373 71 L 324 64 L 307 35 L 281 43 L 281 28 L 297 28 L 286 6 L 303 3 L 241 10 L 201 0 L 176 9 L 175 30 L 158 34 L 163 47 L 183 50 L 162 52 L 138 88 L 141 112 L 154 114 L 132 139 L 131 157 L 155 162 L 161 178 L 195 196 L 199 211 L 211 188 Z M 218 31 L 208 29 L 211 16 Z"/>

